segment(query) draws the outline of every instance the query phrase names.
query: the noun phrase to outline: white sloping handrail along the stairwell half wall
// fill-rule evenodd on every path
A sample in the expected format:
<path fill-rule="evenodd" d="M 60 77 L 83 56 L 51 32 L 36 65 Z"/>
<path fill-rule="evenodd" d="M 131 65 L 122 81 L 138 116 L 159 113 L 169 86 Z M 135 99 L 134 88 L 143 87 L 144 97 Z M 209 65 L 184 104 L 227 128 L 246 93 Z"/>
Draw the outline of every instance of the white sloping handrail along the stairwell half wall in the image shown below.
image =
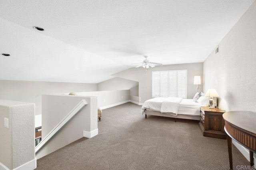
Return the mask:
<path fill-rule="evenodd" d="M 85 105 L 87 102 L 85 99 L 81 100 L 70 113 L 60 123 L 50 131 L 49 134 L 36 146 L 36 153 L 58 132 L 62 127 L 64 127 Z"/>

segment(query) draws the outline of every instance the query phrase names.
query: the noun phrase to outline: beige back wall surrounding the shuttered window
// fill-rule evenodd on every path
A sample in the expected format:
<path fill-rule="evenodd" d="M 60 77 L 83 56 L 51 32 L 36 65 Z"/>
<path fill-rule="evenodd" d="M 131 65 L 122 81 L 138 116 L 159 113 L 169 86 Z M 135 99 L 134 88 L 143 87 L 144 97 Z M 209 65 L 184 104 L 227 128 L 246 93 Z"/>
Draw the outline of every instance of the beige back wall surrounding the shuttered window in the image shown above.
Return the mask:
<path fill-rule="evenodd" d="M 147 71 L 143 67 L 130 68 L 119 73 L 113 74 L 113 76 L 121 77 L 139 82 L 139 97 L 141 97 L 140 103 L 151 99 L 151 73 L 152 71 L 160 70 L 188 70 L 188 99 L 192 99 L 197 92 L 196 85 L 194 85 L 194 76 L 200 75 L 203 77 L 203 63 L 190 63 L 190 64 L 176 64 L 176 65 L 163 65 L 149 68 Z M 203 80 L 203 79 L 202 79 Z M 201 80 L 201 81 L 202 81 Z M 202 91 L 202 85 L 199 86 L 199 91 Z"/>

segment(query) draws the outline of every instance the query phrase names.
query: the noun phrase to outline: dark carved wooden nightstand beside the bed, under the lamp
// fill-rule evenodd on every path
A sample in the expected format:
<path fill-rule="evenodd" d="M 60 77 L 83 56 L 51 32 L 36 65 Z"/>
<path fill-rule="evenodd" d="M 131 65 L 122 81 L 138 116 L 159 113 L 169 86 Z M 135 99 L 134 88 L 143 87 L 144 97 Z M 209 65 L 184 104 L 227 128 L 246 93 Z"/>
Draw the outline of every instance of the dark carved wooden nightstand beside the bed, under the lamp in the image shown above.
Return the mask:
<path fill-rule="evenodd" d="M 226 133 L 224 131 L 225 121 L 222 117 L 223 113 L 225 111 L 218 108 L 209 109 L 208 107 L 200 107 L 199 127 L 204 136 L 226 139 Z"/>

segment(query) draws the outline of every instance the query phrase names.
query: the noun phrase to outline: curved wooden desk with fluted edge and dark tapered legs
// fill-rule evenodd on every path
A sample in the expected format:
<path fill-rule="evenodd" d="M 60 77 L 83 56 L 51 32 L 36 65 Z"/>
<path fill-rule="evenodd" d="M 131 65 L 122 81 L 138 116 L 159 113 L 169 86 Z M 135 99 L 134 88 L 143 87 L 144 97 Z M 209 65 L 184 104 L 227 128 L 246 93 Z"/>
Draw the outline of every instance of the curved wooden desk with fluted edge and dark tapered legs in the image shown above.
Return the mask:
<path fill-rule="evenodd" d="M 224 130 L 228 140 L 230 170 L 232 162 L 232 139 L 250 151 L 250 165 L 253 166 L 253 152 L 256 153 L 256 113 L 250 111 L 231 111 L 223 115 Z"/>

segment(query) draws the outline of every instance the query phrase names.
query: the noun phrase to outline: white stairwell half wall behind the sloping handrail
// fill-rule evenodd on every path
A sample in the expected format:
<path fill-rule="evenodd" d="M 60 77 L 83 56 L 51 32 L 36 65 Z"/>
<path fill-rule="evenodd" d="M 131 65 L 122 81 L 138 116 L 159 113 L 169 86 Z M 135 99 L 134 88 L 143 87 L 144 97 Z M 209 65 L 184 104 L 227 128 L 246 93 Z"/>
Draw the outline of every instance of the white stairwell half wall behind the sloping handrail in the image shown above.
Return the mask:
<path fill-rule="evenodd" d="M 39 159 L 62 148 L 84 136 L 84 131 L 96 131 L 98 134 L 97 98 L 72 95 L 42 96 L 42 139 L 54 128 L 76 105 L 85 99 L 88 103 L 78 112 L 41 150 L 36 154 Z M 85 136 L 88 137 L 88 136 Z"/>

